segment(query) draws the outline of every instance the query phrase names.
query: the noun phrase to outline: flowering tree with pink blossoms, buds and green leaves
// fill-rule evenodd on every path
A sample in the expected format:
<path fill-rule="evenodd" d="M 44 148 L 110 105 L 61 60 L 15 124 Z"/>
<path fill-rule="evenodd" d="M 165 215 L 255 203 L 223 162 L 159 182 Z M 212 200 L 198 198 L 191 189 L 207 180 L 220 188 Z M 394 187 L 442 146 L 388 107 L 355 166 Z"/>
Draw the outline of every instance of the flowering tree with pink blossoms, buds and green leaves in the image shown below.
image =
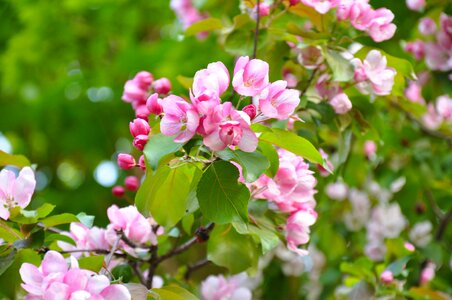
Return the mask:
<path fill-rule="evenodd" d="M 170 2 L 181 37 L 231 59 L 181 92 L 125 82 L 134 149 L 106 227 L 28 210 L 34 170 L 0 152 L 5 296 L 447 299 L 450 4 L 407 1 L 422 18 L 394 51 L 394 13 L 367 0 Z"/>

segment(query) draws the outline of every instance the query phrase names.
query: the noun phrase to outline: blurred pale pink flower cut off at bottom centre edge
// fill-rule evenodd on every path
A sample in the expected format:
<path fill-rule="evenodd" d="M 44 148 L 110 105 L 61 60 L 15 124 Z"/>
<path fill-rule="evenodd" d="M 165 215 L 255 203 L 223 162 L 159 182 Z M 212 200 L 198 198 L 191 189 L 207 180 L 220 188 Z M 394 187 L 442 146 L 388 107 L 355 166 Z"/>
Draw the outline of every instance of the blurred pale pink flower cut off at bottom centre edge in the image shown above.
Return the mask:
<path fill-rule="evenodd" d="M 246 273 L 229 278 L 210 275 L 201 283 L 201 295 L 204 300 L 251 300 L 251 291 L 246 286 L 247 278 Z"/>

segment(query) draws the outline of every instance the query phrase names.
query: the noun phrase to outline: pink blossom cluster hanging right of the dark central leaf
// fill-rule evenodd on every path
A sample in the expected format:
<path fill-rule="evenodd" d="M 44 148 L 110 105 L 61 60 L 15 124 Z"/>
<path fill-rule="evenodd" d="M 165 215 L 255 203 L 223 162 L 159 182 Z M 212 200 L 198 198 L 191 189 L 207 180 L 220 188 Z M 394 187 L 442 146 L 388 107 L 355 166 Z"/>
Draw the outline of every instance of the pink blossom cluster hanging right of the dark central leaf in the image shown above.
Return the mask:
<path fill-rule="evenodd" d="M 262 175 L 251 185 L 254 198 L 267 199 L 275 209 L 289 214 L 286 222 L 287 246 L 306 255 L 299 245 L 309 241 L 309 227 L 317 219 L 314 194 L 317 180 L 303 158 L 283 149 L 278 150 L 279 169 L 275 177 Z"/>

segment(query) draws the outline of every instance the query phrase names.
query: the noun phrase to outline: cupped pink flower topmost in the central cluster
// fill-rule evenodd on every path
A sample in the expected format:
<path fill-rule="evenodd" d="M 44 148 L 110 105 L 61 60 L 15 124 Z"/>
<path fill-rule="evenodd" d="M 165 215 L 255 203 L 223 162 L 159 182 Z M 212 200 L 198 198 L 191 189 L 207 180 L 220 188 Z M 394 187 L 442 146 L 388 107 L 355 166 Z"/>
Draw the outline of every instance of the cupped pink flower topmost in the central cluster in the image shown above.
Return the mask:
<path fill-rule="evenodd" d="M 268 85 L 268 70 L 265 61 L 242 56 L 235 64 L 232 86 L 240 95 L 254 97 Z"/>

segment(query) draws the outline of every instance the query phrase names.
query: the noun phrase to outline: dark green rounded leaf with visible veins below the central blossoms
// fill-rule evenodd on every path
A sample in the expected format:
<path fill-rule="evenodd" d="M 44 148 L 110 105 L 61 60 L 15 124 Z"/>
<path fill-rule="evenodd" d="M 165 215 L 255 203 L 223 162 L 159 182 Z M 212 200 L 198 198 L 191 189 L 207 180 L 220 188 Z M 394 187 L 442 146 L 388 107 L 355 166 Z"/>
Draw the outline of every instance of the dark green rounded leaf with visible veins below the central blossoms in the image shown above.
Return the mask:
<path fill-rule="evenodd" d="M 247 222 L 250 192 L 238 178 L 237 167 L 229 162 L 218 161 L 208 167 L 197 188 L 204 217 L 218 224 Z"/>

